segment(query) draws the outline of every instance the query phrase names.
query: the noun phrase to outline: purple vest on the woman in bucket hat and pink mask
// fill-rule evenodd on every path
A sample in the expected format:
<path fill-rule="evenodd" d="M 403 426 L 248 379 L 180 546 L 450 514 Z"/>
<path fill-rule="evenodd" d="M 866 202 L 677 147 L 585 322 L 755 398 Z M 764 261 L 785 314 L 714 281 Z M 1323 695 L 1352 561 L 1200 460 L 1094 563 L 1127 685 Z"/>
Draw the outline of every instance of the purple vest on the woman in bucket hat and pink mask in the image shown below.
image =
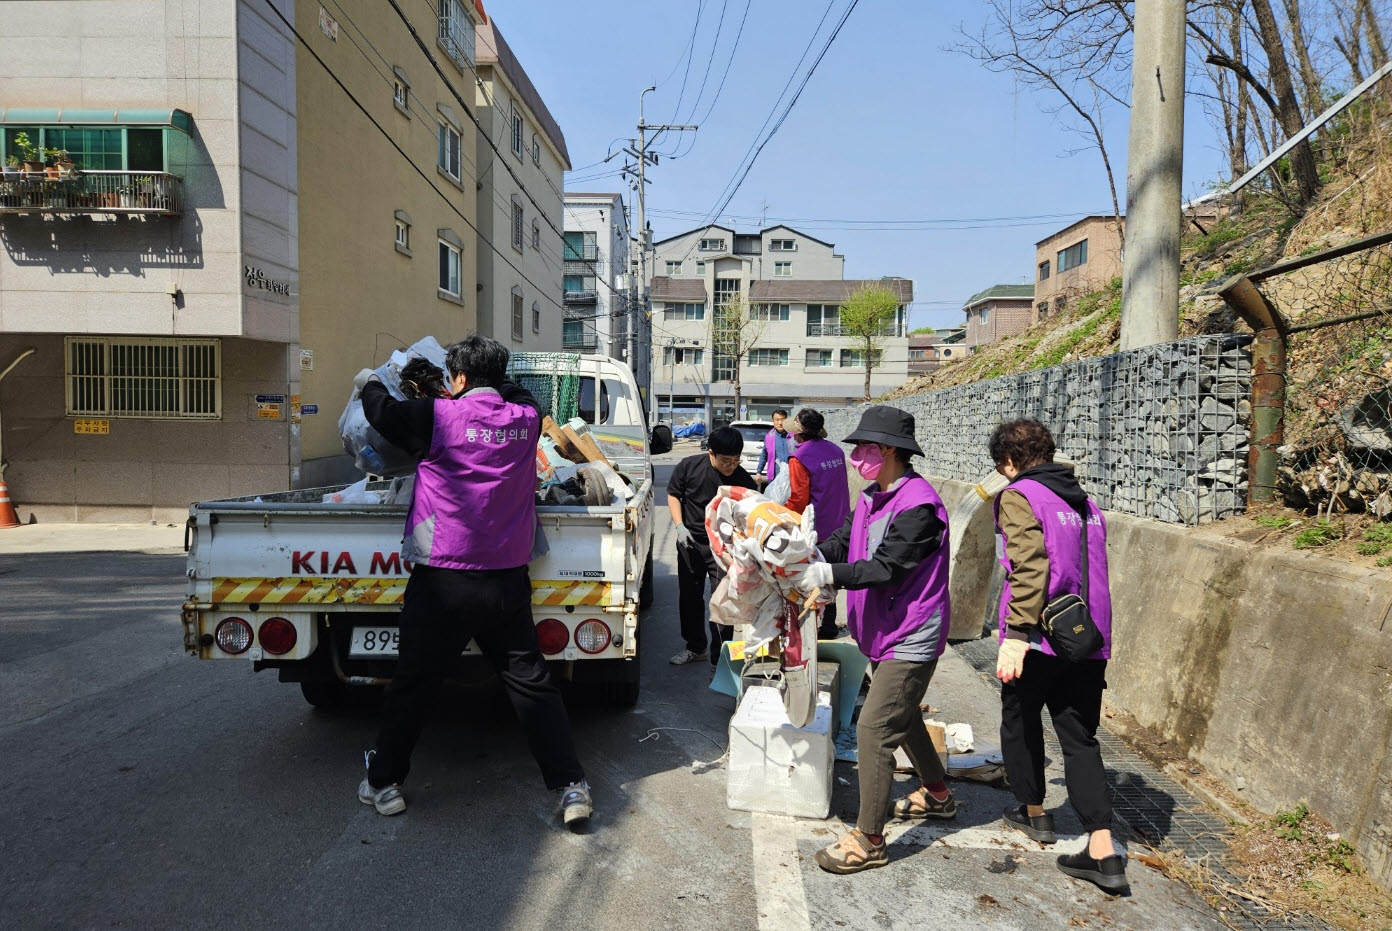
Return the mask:
<path fill-rule="evenodd" d="M 860 651 L 874 662 L 931 662 L 942 655 L 952 622 L 948 598 L 948 509 L 928 480 L 909 473 L 888 491 L 862 494 L 851 523 L 848 562 L 874 555 L 901 511 L 930 505 L 942 522 L 937 552 L 892 587 L 846 591 L 846 626 Z"/>

